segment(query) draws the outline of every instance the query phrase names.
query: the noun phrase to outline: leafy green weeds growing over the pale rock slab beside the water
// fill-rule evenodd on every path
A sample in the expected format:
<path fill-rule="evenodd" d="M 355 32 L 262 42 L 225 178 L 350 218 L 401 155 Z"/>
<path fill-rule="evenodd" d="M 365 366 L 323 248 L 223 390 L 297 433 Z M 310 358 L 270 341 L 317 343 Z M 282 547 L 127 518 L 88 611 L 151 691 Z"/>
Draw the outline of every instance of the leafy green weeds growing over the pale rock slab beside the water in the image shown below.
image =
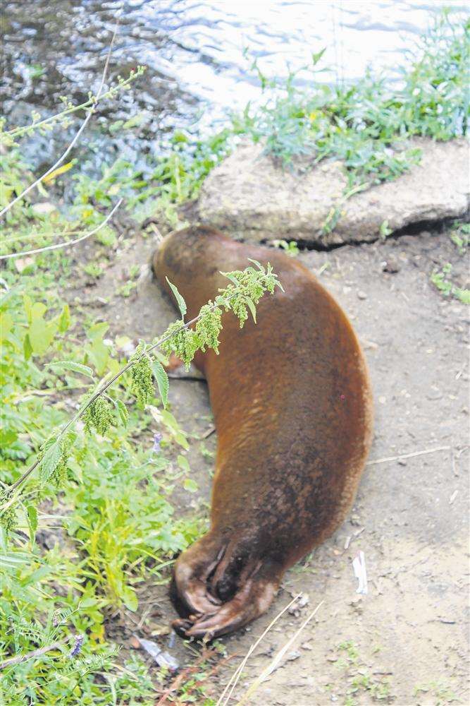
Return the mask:
<path fill-rule="evenodd" d="M 237 122 L 285 167 L 342 160 L 350 190 L 394 179 L 418 161 L 419 150 L 409 148 L 407 138 L 450 140 L 466 134 L 468 20 L 456 23 L 447 12 L 435 20 L 413 50 L 419 59 L 411 69 L 402 68 L 399 90 L 392 91 L 386 77 L 371 72 L 353 85 L 316 82 L 322 55 L 312 55 L 313 81 L 306 89 L 297 88 L 294 74 L 282 83 L 258 69 L 266 100 Z"/>

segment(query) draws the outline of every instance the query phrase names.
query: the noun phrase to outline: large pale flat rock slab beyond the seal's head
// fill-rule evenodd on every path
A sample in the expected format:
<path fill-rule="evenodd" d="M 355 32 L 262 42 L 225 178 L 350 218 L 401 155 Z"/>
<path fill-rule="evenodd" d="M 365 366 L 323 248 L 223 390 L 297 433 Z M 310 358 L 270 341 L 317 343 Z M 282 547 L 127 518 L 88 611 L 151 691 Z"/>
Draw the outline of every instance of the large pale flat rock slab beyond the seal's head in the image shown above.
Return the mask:
<path fill-rule="evenodd" d="M 470 206 L 466 141 L 414 138 L 409 147 L 421 148 L 421 164 L 341 203 L 347 180 L 340 162 L 323 161 L 295 174 L 276 166 L 260 145 L 242 143 L 204 181 L 199 220 L 235 239 L 330 246 L 376 240 L 384 221 L 393 232 L 416 222 L 464 216 Z M 323 232 L 335 208 L 342 211 L 340 220 L 333 232 Z"/>

